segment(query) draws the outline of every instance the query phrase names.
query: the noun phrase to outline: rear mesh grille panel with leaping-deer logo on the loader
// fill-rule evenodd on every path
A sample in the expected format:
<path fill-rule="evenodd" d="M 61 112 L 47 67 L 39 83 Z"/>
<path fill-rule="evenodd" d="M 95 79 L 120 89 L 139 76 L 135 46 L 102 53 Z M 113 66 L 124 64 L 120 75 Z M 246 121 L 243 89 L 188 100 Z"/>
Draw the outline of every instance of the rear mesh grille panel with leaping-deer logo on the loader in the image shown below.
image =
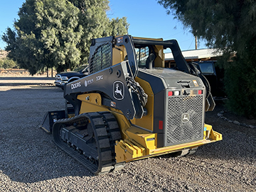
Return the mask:
<path fill-rule="evenodd" d="M 203 139 L 203 96 L 168 98 L 166 146 Z"/>

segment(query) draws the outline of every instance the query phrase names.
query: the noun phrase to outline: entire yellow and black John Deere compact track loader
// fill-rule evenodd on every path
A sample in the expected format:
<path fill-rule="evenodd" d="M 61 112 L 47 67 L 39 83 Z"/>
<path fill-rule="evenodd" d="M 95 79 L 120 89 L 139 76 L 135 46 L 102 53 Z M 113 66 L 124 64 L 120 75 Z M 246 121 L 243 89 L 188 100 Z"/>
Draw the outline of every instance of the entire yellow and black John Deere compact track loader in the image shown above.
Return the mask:
<path fill-rule="evenodd" d="M 176 69 L 164 67 L 166 48 Z M 41 127 L 93 174 L 146 157 L 193 154 L 222 140 L 204 123 L 215 106 L 208 81 L 176 40 L 92 39 L 89 63 L 87 77 L 65 85 L 65 110 L 46 113 Z"/>

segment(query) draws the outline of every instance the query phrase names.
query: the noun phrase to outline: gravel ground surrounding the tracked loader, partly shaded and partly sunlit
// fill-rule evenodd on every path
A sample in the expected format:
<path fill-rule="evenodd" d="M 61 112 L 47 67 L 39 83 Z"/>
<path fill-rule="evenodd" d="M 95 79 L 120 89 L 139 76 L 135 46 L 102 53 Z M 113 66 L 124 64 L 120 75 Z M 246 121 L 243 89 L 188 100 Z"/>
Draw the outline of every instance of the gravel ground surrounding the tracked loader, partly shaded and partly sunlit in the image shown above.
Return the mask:
<path fill-rule="evenodd" d="M 65 106 L 53 81 L 0 77 L 0 191 L 256 191 L 256 130 L 218 118 L 220 104 L 206 123 L 223 141 L 190 157 L 153 157 L 93 176 L 38 128 L 46 111 Z"/>

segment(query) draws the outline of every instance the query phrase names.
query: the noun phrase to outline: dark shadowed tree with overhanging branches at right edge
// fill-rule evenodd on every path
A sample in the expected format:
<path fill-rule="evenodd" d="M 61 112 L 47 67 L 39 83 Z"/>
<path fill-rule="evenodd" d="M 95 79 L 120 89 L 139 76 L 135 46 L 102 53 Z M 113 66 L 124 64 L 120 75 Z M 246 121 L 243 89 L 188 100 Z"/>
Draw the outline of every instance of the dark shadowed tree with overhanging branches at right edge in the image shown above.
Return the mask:
<path fill-rule="evenodd" d="M 224 52 L 228 106 L 256 116 L 256 1 L 159 0 L 193 35 Z M 230 55 L 234 55 L 230 57 Z"/>

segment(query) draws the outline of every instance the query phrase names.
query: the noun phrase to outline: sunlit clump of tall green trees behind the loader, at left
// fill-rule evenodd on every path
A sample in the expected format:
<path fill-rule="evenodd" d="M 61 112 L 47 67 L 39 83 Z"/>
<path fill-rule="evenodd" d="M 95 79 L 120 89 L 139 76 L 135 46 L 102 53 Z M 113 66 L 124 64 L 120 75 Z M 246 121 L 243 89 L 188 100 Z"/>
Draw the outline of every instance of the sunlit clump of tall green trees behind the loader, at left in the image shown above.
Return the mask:
<path fill-rule="evenodd" d="M 105 0 L 26 0 L 15 30 L 7 28 L 2 36 L 9 57 L 31 74 L 87 63 L 92 38 L 127 33 L 126 18 L 107 18 L 108 4 Z"/>

